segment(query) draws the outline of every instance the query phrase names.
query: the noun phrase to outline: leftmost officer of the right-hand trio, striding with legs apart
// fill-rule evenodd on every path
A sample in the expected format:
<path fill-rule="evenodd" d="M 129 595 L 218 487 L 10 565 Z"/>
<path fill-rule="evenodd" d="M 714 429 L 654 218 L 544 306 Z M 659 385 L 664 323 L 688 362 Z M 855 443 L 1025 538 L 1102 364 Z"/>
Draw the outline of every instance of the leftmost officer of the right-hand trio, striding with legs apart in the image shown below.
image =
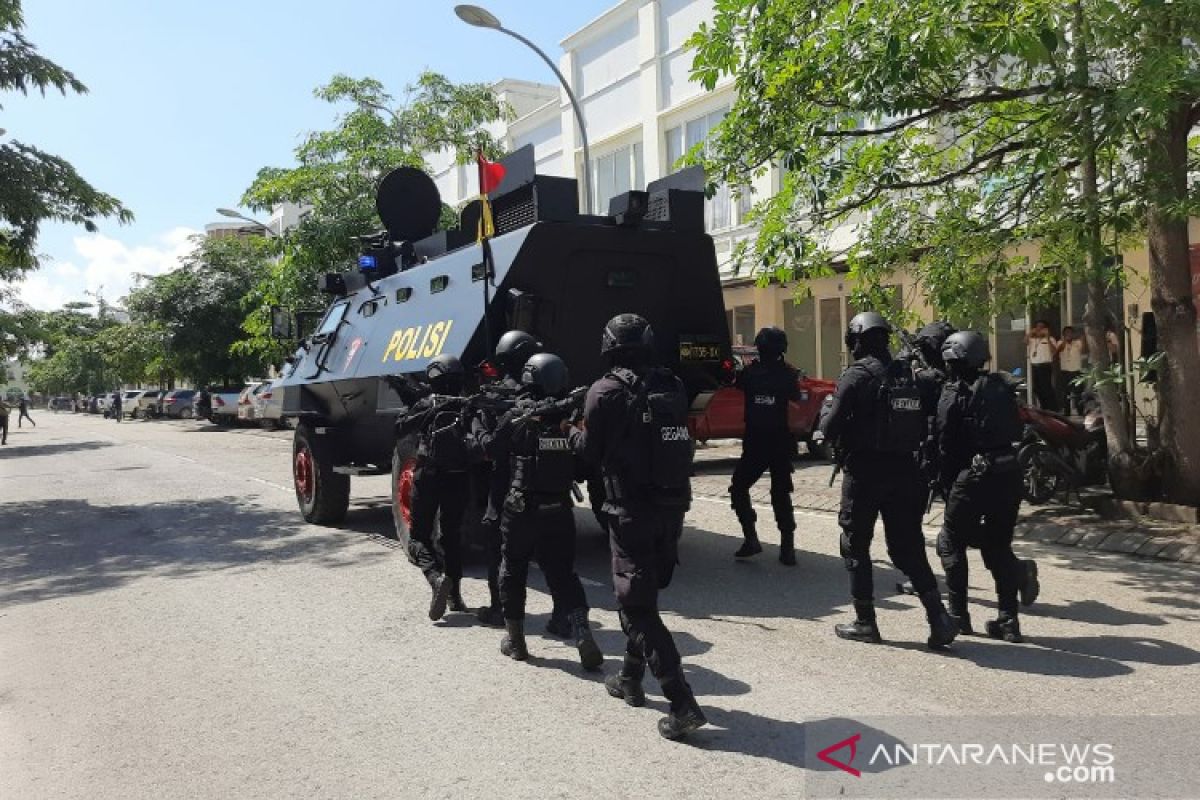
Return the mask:
<path fill-rule="evenodd" d="M 893 361 L 888 349 L 892 326 L 876 312 L 850 320 L 846 347 L 856 359 L 838 380 L 821 431 L 842 453 L 841 555 L 850 572 L 854 620 L 836 625 L 844 639 L 880 642 L 875 619 L 871 539 L 883 517 L 888 557 L 913 583 L 929 620 L 930 648 L 954 640 L 958 626 L 946 612 L 937 578 L 929 566 L 920 521 L 925 486 L 917 464 L 932 409 L 924 407 L 912 371 Z"/>

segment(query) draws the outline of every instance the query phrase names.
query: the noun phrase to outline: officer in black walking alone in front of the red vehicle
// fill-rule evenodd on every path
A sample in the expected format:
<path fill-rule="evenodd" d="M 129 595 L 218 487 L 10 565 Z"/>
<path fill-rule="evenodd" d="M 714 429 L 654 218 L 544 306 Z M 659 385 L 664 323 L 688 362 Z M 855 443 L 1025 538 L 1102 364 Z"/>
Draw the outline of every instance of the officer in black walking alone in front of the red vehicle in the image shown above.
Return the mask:
<path fill-rule="evenodd" d="M 750 487 L 770 471 L 770 506 L 779 525 L 779 563 L 796 566 L 796 512 L 792 509 L 792 458 L 796 438 L 787 427 L 787 404 L 799 401 L 799 373 L 784 361 L 787 333 L 764 327 L 755 337 L 758 357 L 743 369 L 736 386 L 745 396 L 745 434 L 742 458 L 730 481 L 730 504 L 742 524 L 739 559 L 762 553 L 755 522 L 758 515 L 750 504 Z"/>

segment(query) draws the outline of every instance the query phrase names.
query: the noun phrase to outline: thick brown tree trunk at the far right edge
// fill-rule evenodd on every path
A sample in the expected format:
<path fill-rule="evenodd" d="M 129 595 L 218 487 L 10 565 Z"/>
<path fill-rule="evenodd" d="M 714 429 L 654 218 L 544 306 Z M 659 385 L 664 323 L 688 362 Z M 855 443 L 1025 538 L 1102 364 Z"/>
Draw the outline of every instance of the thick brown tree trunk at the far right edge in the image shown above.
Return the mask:
<path fill-rule="evenodd" d="M 1200 343 L 1192 301 L 1188 218 L 1177 209 L 1187 199 L 1190 104 L 1176 108 L 1147 132 L 1146 174 L 1150 198 L 1146 239 L 1150 247 L 1151 308 L 1158 342 L 1166 354 L 1158 371 L 1160 431 L 1166 451 L 1164 488 L 1172 503 L 1200 505 Z M 1188 397 L 1192 397 L 1189 401 Z"/>

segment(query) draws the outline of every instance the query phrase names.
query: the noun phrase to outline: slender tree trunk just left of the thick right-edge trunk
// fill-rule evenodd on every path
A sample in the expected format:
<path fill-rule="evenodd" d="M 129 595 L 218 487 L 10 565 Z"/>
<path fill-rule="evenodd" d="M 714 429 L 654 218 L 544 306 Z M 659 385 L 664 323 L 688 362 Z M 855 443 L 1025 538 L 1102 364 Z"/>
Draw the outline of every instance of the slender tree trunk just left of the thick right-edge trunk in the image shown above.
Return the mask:
<path fill-rule="evenodd" d="M 1084 240 L 1087 251 L 1087 311 L 1084 313 L 1084 337 L 1087 339 L 1087 354 L 1092 367 L 1104 371 L 1112 366 L 1105 337 L 1109 282 L 1105 275 L 1104 228 L 1100 223 L 1096 115 L 1092 109 L 1093 96 L 1088 77 L 1087 20 L 1079 0 L 1074 4 L 1073 41 L 1073 66 L 1080 90 L 1079 194 L 1084 205 Z M 1129 429 L 1129 417 L 1121 402 L 1121 386 L 1104 384 L 1096 387 L 1096 395 L 1100 401 L 1100 413 L 1104 414 L 1104 433 L 1109 447 L 1109 482 L 1117 497 L 1138 498 L 1142 494 L 1142 487 L 1133 458 L 1133 432 Z"/>

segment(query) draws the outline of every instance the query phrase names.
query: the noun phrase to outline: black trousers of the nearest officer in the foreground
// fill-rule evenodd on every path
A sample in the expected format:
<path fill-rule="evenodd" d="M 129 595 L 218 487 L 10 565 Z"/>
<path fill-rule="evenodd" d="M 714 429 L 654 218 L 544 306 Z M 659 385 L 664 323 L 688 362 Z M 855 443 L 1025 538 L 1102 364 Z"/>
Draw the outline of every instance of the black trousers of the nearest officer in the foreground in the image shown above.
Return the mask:
<path fill-rule="evenodd" d="M 659 590 L 671 584 L 683 533 L 682 509 L 644 509 L 611 517 L 612 584 L 617 593 L 625 652 L 641 657 L 678 708 L 691 690 L 684 681 L 679 650 L 659 614 Z"/>

